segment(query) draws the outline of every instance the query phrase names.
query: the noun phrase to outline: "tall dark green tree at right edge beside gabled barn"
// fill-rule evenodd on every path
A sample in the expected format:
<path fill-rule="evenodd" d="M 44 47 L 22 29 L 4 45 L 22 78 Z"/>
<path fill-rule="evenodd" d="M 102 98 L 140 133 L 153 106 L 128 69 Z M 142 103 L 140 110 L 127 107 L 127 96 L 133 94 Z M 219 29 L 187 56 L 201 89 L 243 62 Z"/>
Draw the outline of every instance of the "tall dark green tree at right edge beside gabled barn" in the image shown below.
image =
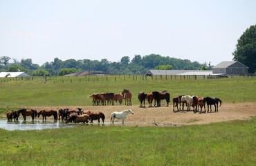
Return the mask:
<path fill-rule="evenodd" d="M 250 26 L 237 40 L 233 60 L 249 67 L 248 73 L 256 71 L 256 25 Z"/>

